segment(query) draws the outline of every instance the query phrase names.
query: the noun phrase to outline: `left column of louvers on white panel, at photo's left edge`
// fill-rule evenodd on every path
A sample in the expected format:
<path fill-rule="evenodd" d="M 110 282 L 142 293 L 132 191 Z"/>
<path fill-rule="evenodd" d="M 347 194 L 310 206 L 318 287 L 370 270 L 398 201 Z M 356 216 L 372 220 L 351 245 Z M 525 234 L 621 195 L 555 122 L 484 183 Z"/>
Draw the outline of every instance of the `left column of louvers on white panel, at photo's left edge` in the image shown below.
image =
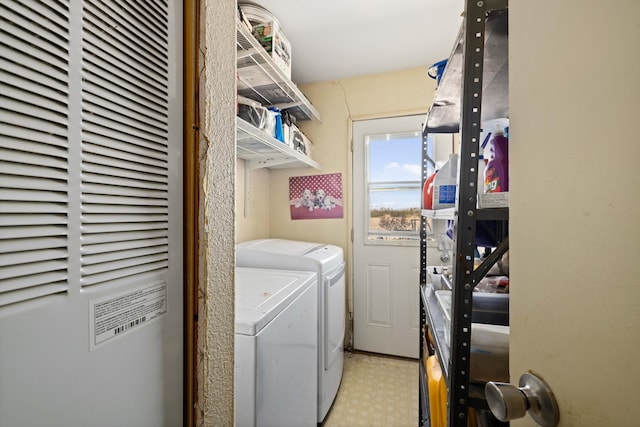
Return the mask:
<path fill-rule="evenodd" d="M 68 2 L 0 3 L 0 307 L 68 289 Z"/>

